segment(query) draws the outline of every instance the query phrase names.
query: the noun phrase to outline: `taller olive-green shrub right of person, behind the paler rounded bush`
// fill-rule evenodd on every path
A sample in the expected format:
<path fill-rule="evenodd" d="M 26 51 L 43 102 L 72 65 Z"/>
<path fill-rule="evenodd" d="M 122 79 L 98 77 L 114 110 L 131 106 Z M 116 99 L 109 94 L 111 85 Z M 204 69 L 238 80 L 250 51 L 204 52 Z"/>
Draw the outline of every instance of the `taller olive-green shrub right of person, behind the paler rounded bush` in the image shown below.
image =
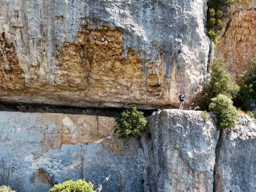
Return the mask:
<path fill-rule="evenodd" d="M 202 110 L 208 110 L 211 99 L 220 93 L 233 99 L 238 91 L 239 86 L 233 76 L 226 71 L 223 61 L 217 59 L 211 65 L 211 80 L 203 85 L 200 107 Z"/>

